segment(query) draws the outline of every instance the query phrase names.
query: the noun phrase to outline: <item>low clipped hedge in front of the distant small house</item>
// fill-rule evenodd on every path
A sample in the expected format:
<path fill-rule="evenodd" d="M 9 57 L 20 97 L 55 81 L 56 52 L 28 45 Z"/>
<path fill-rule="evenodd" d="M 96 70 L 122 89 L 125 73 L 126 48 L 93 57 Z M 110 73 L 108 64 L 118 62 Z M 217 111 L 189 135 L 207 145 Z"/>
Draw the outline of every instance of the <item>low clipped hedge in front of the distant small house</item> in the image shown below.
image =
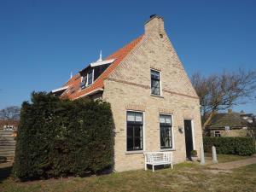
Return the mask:
<path fill-rule="evenodd" d="M 254 137 L 204 137 L 205 152 L 212 151 L 212 145 L 216 147 L 218 154 L 238 154 L 248 156 L 255 153 Z"/>

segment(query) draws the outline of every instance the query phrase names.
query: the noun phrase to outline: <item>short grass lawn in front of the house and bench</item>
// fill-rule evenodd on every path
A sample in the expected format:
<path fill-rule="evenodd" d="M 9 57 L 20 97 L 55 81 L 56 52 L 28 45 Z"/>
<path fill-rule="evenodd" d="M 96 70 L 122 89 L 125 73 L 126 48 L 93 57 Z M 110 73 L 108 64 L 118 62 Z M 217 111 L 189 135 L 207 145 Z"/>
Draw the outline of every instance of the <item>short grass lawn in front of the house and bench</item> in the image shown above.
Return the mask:
<path fill-rule="evenodd" d="M 229 155 L 230 156 L 230 155 Z M 233 157 L 231 157 L 233 156 Z M 228 159 L 240 157 L 224 156 Z M 219 156 L 219 161 L 222 157 Z M 236 160 L 237 160 L 236 159 Z M 0 191 L 255 191 L 256 164 L 232 171 L 219 171 L 196 163 L 174 165 L 174 169 L 120 172 L 96 177 L 68 177 L 15 183 L 12 179 L 0 181 Z"/>

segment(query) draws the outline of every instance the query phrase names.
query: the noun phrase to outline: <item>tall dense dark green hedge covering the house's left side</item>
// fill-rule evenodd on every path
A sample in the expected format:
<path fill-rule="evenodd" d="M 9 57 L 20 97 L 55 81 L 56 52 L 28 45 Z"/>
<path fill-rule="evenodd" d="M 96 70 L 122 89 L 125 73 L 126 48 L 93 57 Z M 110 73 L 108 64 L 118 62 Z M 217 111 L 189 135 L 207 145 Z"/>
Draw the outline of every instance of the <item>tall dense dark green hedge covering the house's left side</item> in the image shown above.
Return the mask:
<path fill-rule="evenodd" d="M 44 92 L 24 102 L 13 175 L 20 180 L 101 172 L 113 166 L 108 102 L 61 100 Z"/>

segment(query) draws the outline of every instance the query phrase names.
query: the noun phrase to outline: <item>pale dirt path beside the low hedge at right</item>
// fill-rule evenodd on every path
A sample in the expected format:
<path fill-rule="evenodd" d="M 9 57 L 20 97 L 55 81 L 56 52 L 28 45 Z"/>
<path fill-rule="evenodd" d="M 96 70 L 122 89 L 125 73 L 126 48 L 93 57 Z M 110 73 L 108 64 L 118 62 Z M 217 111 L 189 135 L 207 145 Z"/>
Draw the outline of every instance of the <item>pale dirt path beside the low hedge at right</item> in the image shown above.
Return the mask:
<path fill-rule="evenodd" d="M 238 168 L 240 166 L 248 166 L 251 164 L 256 164 L 256 156 L 255 155 L 253 155 L 252 158 L 249 158 L 246 160 L 236 160 L 236 161 L 231 161 L 231 162 L 227 162 L 227 163 L 219 163 L 219 164 L 214 164 L 209 167 L 213 168 L 213 169 L 230 170 L 230 169 Z"/>

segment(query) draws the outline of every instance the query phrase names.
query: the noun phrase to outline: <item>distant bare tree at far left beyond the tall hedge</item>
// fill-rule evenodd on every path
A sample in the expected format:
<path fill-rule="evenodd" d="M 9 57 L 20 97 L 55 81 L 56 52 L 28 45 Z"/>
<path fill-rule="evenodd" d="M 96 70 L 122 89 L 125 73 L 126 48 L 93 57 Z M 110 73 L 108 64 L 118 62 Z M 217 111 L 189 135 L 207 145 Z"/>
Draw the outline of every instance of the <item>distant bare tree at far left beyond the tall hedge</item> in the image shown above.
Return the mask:
<path fill-rule="evenodd" d="M 20 119 L 20 107 L 10 106 L 0 110 L 0 119 L 3 120 L 18 120 Z"/>

